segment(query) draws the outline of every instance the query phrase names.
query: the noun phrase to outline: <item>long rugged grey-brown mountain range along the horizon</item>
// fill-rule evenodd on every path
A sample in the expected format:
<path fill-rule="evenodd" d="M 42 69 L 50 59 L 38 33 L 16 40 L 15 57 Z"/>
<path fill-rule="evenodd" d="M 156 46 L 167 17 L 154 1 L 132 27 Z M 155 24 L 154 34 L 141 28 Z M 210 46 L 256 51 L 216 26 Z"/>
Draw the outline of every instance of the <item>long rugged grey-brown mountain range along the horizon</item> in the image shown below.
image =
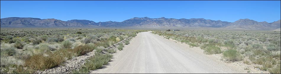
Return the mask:
<path fill-rule="evenodd" d="M 40 19 L 8 17 L 2 18 L 0 27 L 135 27 L 135 28 L 224 28 L 239 30 L 275 30 L 280 28 L 280 20 L 275 22 L 257 22 L 250 19 L 240 19 L 235 22 L 221 20 L 206 20 L 203 18 L 173 19 L 134 17 L 122 22 L 94 22 L 90 20 Z"/>

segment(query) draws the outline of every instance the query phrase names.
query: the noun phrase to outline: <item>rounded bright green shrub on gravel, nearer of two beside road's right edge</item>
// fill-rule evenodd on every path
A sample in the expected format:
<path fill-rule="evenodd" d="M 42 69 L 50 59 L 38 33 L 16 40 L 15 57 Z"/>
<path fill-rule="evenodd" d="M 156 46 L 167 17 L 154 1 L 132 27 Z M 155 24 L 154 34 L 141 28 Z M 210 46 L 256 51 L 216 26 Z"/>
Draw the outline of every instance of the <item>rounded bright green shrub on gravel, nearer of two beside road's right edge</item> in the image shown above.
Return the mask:
<path fill-rule="evenodd" d="M 239 61 L 242 57 L 237 50 L 227 50 L 223 52 L 223 57 L 225 57 L 229 61 Z"/>

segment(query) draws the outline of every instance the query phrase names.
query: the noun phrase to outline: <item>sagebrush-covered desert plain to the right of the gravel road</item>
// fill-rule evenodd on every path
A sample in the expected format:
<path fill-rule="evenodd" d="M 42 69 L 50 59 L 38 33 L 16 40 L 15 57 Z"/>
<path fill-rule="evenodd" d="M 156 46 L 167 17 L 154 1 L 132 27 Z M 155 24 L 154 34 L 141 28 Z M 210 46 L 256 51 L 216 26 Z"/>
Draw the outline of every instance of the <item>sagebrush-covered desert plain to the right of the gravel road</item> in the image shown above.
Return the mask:
<path fill-rule="evenodd" d="M 243 61 L 256 68 L 280 73 L 280 32 L 274 31 L 154 31 L 164 36 L 200 47 L 206 54 L 222 54 L 225 61 Z"/>

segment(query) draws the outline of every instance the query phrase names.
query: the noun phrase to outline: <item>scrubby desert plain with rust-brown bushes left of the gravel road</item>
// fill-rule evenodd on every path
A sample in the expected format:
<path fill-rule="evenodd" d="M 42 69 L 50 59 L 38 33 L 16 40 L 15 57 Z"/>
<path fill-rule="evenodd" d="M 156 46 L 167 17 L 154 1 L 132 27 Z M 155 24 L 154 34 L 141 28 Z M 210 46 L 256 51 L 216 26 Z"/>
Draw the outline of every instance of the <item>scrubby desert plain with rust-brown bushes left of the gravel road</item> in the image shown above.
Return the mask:
<path fill-rule="evenodd" d="M 116 52 L 114 49 L 104 50 L 106 47 L 142 31 L 1 28 L 1 73 L 34 73 L 62 65 L 66 60 L 93 50 L 96 56 L 83 67 L 97 69 L 111 59 L 110 53 Z M 109 53 L 102 54 L 102 51 Z"/>

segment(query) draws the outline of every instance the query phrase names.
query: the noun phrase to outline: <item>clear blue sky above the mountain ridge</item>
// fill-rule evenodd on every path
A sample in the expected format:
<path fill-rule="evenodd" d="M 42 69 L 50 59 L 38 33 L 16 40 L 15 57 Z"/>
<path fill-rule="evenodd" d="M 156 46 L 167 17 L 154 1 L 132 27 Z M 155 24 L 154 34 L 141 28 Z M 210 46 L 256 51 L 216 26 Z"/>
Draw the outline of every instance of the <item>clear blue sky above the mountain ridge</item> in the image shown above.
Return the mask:
<path fill-rule="evenodd" d="M 117 21 L 133 17 L 280 20 L 280 1 L 1 1 L 1 18 Z"/>

